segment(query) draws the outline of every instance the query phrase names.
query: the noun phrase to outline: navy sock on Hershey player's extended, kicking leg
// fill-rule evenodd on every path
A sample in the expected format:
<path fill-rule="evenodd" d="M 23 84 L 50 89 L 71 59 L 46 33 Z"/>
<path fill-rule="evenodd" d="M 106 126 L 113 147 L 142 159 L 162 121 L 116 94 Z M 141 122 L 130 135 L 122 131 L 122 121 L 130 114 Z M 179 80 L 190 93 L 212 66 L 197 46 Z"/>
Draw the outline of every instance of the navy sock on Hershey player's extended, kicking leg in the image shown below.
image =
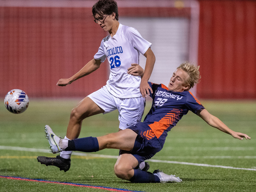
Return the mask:
<path fill-rule="evenodd" d="M 96 152 L 99 151 L 99 142 L 97 137 L 72 139 L 68 141 L 65 151 Z"/>

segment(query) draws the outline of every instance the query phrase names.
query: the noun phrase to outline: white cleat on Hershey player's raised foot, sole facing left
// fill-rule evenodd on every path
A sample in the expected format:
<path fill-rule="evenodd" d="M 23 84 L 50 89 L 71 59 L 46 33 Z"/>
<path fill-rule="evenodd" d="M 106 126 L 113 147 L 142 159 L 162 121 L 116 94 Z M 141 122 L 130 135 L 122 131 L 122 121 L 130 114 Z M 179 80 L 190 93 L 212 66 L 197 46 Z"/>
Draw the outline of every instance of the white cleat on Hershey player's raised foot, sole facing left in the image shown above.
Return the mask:
<path fill-rule="evenodd" d="M 59 147 L 59 141 L 61 137 L 58 137 L 54 134 L 54 132 L 51 130 L 51 127 L 49 125 L 45 125 L 45 136 L 49 141 L 50 147 L 49 149 L 53 154 L 61 152 L 61 148 Z"/>

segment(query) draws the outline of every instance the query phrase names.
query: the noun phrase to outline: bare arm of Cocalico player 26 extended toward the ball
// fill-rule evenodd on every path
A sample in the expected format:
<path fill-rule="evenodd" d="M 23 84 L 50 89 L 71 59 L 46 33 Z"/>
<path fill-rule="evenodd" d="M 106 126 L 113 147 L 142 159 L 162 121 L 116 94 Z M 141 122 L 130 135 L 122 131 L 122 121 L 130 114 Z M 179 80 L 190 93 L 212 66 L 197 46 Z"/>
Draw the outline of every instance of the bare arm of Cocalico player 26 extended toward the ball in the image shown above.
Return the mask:
<path fill-rule="evenodd" d="M 60 79 L 57 83 L 57 86 L 66 86 L 68 84 L 71 84 L 73 81 L 80 79 L 81 77 L 89 75 L 90 73 L 98 69 L 100 67 L 100 64 L 101 64 L 101 60 L 92 59 L 72 77 L 68 79 Z"/>

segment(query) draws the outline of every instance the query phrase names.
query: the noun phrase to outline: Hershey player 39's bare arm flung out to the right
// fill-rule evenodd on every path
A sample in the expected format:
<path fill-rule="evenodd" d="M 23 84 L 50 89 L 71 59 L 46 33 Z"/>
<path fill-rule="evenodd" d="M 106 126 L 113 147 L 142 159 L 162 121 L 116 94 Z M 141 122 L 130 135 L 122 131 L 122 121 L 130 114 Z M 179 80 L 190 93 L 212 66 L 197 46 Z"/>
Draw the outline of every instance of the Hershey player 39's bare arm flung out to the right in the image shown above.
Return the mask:
<path fill-rule="evenodd" d="M 229 129 L 227 127 L 227 125 L 225 125 L 217 117 L 215 117 L 212 114 L 210 114 L 206 109 L 199 110 L 197 112 L 197 115 L 200 118 L 202 118 L 203 120 L 205 120 L 205 122 L 208 123 L 209 125 L 211 125 L 212 127 L 215 127 L 217 129 L 219 129 L 220 131 L 223 131 L 223 132 L 225 132 L 227 134 L 230 134 L 234 138 L 238 138 L 240 140 L 243 140 L 242 137 L 246 138 L 247 140 L 251 139 L 251 137 L 249 137 L 248 135 L 246 135 L 244 133 L 239 133 L 239 132 L 232 131 L 231 129 Z"/>

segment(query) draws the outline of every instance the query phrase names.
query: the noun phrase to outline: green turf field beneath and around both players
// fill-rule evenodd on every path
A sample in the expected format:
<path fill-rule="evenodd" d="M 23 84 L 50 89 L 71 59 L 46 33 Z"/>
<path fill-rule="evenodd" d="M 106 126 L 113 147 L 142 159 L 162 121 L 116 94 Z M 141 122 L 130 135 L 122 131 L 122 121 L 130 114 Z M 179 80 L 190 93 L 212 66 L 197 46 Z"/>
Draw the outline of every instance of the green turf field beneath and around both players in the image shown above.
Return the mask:
<path fill-rule="evenodd" d="M 49 124 L 57 135 L 65 136 L 70 111 L 78 100 L 33 100 L 22 114 L 8 112 L 0 106 L 0 145 L 48 149 L 44 126 Z M 161 152 L 152 159 L 205 163 L 242 168 L 255 168 L 254 138 L 256 124 L 255 101 L 201 101 L 205 108 L 232 130 L 246 133 L 249 141 L 234 139 L 207 125 L 189 112 L 169 133 Z M 151 101 L 147 101 L 145 114 Z M 144 116 L 145 116 L 144 114 Z M 80 137 L 101 136 L 118 130 L 118 112 L 87 118 Z M 105 149 L 93 154 L 118 155 L 118 150 Z M 251 170 L 200 167 L 193 165 L 150 162 L 155 169 L 175 174 L 183 183 L 133 184 L 117 178 L 113 167 L 116 159 L 71 157 L 71 168 L 64 173 L 55 166 L 41 165 L 36 156 L 54 154 L 0 150 L 0 175 L 59 182 L 81 183 L 136 191 L 255 191 L 256 172 Z M 247 156 L 247 157 L 246 157 Z M 92 177 L 93 176 L 93 177 Z M 39 183 L 0 178 L 1 191 L 103 191 L 60 184 Z"/>

